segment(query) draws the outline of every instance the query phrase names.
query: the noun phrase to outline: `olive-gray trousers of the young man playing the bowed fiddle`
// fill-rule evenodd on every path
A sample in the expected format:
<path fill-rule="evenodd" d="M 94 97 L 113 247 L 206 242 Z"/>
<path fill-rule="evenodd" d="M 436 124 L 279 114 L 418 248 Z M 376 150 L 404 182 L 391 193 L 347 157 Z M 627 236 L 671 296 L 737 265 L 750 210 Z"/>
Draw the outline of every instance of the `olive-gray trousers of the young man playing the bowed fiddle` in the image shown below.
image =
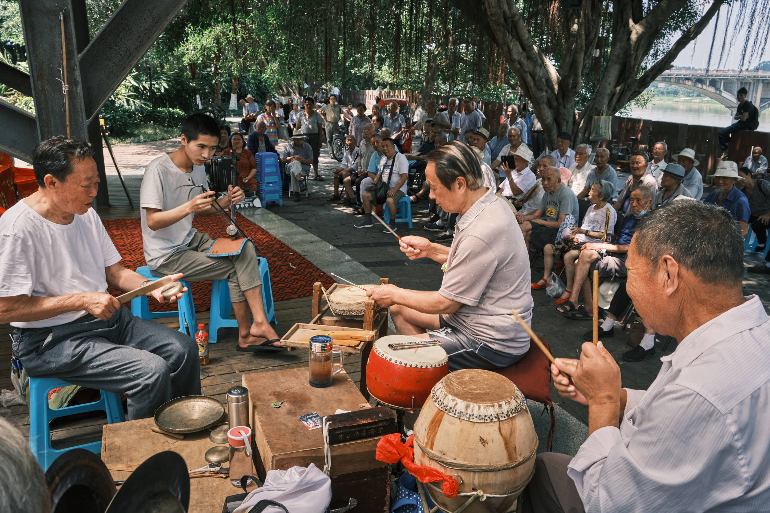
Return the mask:
<path fill-rule="evenodd" d="M 246 301 L 243 291 L 262 285 L 256 248 L 251 241 L 246 241 L 240 255 L 207 257 L 213 242 L 209 235 L 197 232 L 185 248 L 177 249 L 150 273 L 167 276 L 181 272 L 187 281 L 227 280 L 230 301 Z"/>

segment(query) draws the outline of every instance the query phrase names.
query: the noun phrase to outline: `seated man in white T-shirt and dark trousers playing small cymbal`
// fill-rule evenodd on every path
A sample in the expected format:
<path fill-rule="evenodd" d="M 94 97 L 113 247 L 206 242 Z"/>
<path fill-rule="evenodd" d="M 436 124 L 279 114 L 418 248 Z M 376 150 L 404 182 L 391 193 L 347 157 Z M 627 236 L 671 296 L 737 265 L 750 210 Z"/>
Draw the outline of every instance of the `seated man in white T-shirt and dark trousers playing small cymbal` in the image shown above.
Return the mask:
<path fill-rule="evenodd" d="M 200 394 L 198 348 L 107 292 L 150 280 L 120 265 L 91 208 L 99 187 L 92 155 L 88 142 L 61 135 L 35 146 L 39 190 L 0 218 L 0 322 L 16 328 L 12 356 L 28 375 L 126 394 L 129 419 L 152 417 L 172 398 Z M 160 303 L 161 290 L 151 293 Z"/>

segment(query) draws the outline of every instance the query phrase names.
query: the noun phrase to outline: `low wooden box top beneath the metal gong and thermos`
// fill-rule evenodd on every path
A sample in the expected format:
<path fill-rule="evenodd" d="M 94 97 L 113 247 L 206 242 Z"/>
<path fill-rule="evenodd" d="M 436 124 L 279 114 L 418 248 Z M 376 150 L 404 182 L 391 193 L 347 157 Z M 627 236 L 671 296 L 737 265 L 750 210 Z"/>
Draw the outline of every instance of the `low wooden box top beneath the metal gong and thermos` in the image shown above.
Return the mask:
<path fill-rule="evenodd" d="M 102 430 L 102 461 L 109 468 L 115 481 L 123 481 L 147 458 L 161 451 L 174 451 L 185 459 L 187 468 L 208 465 L 203 455 L 215 445 L 209 440 L 209 431 L 185 435 L 178 440 L 150 431 L 155 425 L 152 418 L 105 425 Z M 225 445 L 225 444 L 222 444 Z M 323 459 L 323 458 L 322 458 Z M 249 491 L 256 485 L 249 486 Z M 228 495 L 243 493 L 241 488 L 230 484 L 229 478 L 190 479 L 190 505 L 188 513 L 222 511 Z"/>

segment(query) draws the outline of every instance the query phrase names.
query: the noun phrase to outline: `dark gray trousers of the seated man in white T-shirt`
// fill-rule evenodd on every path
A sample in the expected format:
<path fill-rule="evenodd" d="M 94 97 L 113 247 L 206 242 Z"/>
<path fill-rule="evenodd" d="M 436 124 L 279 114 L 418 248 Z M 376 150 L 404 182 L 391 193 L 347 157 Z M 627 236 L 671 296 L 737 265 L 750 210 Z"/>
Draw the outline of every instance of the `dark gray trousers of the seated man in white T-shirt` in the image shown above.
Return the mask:
<path fill-rule="evenodd" d="M 106 321 L 86 314 L 50 328 L 18 328 L 16 334 L 28 375 L 126 394 L 129 420 L 152 417 L 173 398 L 200 395 L 195 341 L 134 317 L 126 307 Z"/>

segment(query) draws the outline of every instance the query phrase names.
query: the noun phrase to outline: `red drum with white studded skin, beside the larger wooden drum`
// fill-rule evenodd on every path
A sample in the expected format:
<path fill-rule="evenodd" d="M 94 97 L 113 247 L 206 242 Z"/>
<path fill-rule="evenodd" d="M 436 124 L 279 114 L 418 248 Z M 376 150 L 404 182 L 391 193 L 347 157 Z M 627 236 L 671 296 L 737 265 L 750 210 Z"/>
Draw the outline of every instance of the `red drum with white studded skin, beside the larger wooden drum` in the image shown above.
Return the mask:
<path fill-rule="evenodd" d="M 390 335 L 374 342 L 367 361 L 367 390 L 390 408 L 420 409 L 430 390 L 449 374 L 447 351 L 440 346 L 388 348 L 396 342 L 420 341 L 405 335 Z"/>

